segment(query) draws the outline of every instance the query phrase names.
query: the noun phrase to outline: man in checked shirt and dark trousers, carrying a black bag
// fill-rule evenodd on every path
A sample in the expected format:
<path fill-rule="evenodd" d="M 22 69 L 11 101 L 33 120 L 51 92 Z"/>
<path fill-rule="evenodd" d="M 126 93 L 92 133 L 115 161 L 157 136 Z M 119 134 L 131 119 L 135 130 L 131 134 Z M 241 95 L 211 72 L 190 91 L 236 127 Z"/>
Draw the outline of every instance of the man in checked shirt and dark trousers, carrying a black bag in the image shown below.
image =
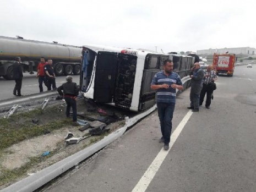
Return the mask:
<path fill-rule="evenodd" d="M 204 72 L 203 88 L 200 92 L 200 104 L 203 105 L 204 97 L 206 94 L 205 107 L 210 108 L 211 105 L 211 94 L 213 94 L 213 83 L 217 80 L 216 72 L 213 70 L 213 65 L 208 65 L 206 71 Z"/>

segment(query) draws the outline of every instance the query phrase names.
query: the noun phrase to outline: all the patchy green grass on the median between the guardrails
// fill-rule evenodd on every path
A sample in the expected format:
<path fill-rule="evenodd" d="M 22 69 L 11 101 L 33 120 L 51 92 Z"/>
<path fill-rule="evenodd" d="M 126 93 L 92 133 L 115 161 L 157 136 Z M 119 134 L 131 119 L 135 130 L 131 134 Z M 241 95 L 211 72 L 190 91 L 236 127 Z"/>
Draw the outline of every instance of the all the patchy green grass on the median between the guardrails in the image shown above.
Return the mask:
<path fill-rule="evenodd" d="M 46 131 L 53 131 L 61 129 L 66 125 L 71 125 L 72 121 L 65 118 L 64 110 L 60 112 L 61 106 L 47 107 L 45 110 L 35 109 L 29 112 L 12 114 L 8 119 L 0 118 L 0 157 L 12 151 L 7 151 L 7 147 L 17 144 L 20 141 L 40 136 L 46 133 Z M 40 119 L 41 124 L 36 125 L 32 123 L 32 119 Z M 89 140 L 83 144 L 86 148 L 95 142 L 104 138 L 110 133 L 105 133 L 99 136 L 92 136 Z M 90 135 L 90 134 L 85 134 Z M 59 144 L 56 150 L 51 151 L 50 155 L 42 157 L 30 157 L 29 162 L 23 166 L 15 169 L 6 169 L 0 166 L 0 186 L 19 180 L 26 177 L 28 170 L 31 167 L 35 167 L 41 162 L 47 160 L 47 158 L 55 155 L 61 150 L 62 144 Z M 75 151 L 74 151 L 75 152 Z"/>

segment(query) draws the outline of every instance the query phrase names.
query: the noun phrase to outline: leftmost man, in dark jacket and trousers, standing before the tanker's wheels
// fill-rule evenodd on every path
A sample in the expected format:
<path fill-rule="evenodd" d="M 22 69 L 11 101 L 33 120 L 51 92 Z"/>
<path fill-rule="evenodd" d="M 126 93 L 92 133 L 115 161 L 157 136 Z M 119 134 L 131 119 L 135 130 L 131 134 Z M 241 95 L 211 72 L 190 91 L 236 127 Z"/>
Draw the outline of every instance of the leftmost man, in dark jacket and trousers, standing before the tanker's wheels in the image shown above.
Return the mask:
<path fill-rule="evenodd" d="M 15 63 L 13 64 L 13 79 L 15 80 L 15 87 L 13 90 L 13 95 L 15 96 L 21 96 L 21 85 L 22 85 L 22 78 L 23 78 L 23 72 L 21 67 L 21 59 L 20 57 L 15 58 Z"/>

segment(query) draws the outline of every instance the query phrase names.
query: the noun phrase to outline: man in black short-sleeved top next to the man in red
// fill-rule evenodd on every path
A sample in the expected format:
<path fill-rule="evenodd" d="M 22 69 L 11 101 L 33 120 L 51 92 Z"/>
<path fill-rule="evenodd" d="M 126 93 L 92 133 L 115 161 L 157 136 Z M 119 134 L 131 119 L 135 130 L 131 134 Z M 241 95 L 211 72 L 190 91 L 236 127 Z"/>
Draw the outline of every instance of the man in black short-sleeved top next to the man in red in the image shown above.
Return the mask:
<path fill-rule="evenodd" d="M 51 91 L 51 86 L 53 90 L 56 90 L 55 74 L 52 67 L 52 59 L 48 59 L 48 63 L 45 65 L 45 79 L 47 82 L 47 90 Z"/>

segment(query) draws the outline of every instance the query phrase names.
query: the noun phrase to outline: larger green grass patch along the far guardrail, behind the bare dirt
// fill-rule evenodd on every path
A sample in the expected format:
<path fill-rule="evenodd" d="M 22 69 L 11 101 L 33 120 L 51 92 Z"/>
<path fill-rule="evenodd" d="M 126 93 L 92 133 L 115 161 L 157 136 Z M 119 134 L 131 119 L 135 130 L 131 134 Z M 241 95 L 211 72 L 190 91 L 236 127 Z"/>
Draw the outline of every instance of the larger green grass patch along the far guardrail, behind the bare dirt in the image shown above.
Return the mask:
<path fill-rule="evenodd" d="M 50 113 L 51 112 L 51 113 Z M 66 118 L 55 118 L 58 115 L 56 107 L 49 107 L 47 111 L 35 109 L 33 111 L 13 114 L 8 119 L 0 118 L 0 153 L 1 150 L 16 144 L 25 139 L 45 134 L 47 131 L 52 131 L 70 124 L 70 120 Z M 52 116 L 50 121 L 45 124 L 33 124 L 32 119 L 42 119 L 45 116 Z M 63 116 L 64 117 L 64 116 Z"/>

